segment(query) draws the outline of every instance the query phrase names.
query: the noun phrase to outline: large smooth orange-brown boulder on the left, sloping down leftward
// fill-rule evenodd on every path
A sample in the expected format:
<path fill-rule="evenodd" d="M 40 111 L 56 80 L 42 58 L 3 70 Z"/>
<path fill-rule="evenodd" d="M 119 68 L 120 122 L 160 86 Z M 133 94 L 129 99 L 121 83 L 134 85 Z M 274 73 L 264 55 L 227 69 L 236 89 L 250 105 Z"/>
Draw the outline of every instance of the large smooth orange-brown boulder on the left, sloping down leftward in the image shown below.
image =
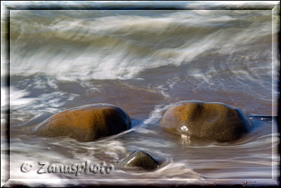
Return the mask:
<path fill-rule="evenodd" d="M 40 123 L 35 134 L 44 137 L 70 136 L 88 142 L 118 134 L 131 127 L 131 118 L 110 104 L 90 104 L 70 108 Z"/>

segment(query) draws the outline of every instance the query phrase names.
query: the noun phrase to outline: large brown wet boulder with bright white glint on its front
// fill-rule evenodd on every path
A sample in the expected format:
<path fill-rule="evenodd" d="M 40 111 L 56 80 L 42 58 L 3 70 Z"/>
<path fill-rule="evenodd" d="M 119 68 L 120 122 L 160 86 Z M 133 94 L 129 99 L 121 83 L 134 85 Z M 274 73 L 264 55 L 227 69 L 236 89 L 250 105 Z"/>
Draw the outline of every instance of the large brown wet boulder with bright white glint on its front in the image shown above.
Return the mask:
<path fill-rule="evenodd" d="M 240 109 L 226 104 L 182 101 L 164 113 L 160 127 L 190 138 L 232 142 L 253 124 Z"/>

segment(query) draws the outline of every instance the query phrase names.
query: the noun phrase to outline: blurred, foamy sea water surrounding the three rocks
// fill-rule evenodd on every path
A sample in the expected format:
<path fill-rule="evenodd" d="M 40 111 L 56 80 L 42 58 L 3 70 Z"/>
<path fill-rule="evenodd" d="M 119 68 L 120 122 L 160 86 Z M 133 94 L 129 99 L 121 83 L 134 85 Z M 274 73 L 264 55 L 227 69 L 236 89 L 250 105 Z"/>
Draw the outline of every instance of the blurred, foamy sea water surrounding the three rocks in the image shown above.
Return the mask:
<path fill-rule="evenodd" d="M 65 186 L 274 184 L 279 133 L 274 117 L 259 116 L 277 115 L 272 28 L 271 10 L 10 11 L 11 179 Z M 164 132 L 163 113 L 186 100 L 223 102 L 258 115 L 251 116 L 254 130 L 226 144 Z M 131 130 L 85 143 L 32 134 L 54 113 L 93 103 L 124 109 Z M 1 113 L 7 108 L 1 98 Z M 136 149 L 160 161 L 159 168 L 118 164 Z M 105 161 L 115 169 L 38 174 L 40 161 Z M 22 173 L 27 162 L 33 169 Z"/>

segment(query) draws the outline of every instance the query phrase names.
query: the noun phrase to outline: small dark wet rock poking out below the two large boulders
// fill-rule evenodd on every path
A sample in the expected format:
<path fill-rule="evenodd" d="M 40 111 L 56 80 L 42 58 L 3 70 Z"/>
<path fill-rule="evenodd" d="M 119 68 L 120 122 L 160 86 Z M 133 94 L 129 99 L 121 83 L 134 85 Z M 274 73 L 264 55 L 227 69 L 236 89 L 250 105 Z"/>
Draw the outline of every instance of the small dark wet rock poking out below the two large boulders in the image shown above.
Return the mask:
<path fill-rule="evenodd" d="M 138 167 L 141 170 L 155 170 L 158 167 L 157 161 L 144 151 L 131 151 L 126 154 L 122 161 L 126 167 Z"/>

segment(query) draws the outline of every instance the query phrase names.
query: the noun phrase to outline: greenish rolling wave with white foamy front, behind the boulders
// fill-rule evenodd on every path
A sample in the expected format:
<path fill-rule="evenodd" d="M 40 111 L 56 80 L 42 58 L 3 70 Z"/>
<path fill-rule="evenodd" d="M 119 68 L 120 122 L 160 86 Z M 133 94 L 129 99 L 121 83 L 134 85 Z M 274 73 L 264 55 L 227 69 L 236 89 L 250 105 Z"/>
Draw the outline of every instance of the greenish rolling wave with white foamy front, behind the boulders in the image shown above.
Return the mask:
<path fill-rule="evenodd" d="M 238 57 L 245 64 L 258 59 L 266 62 L 271 54 L 267 50 L 271 13 L 266 11 L 131 14 L 133 11 L 13 11 L 11 75 L 126 80 L 151 68 L 185 65 L 200 57 Z M 233 65 L 230 63 L 225 62 L 226 66 Z M 270 72 L 271 67 L 267 68 Z"/>

